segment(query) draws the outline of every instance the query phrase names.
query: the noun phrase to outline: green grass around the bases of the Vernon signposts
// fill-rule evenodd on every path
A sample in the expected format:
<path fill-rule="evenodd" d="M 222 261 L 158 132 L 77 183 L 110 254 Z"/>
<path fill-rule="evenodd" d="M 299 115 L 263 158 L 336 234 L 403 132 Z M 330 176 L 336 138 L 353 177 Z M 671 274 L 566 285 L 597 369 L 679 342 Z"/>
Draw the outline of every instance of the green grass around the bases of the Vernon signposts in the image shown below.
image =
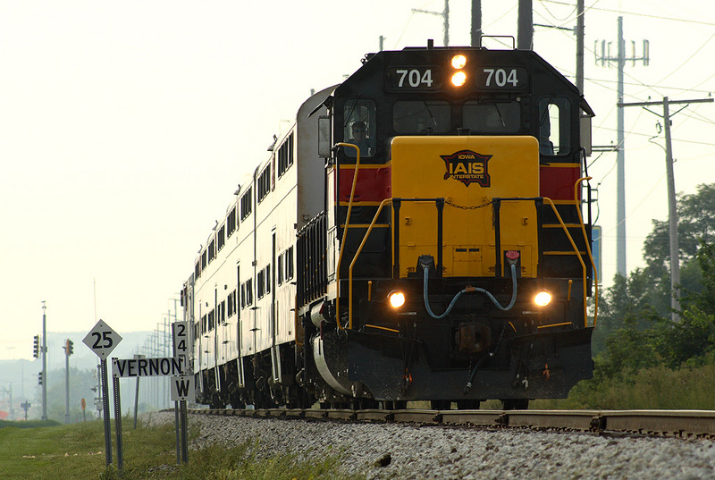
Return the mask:
<path fill-rule="evenodd" d="M 323 454 L 317 460 L 294 455 L 262 459 L 258 457 L 260 445 L 252 440 L 231 447 L 213 445 L 200 451 L 189 451 L 189 463 L 180 467 L 176 465 L 173 425 L 141 425 L 134 430 L 133 422 L 125 419 L 122 433 L 124 464 L 120 476 L 116 470 L 114 432 L 114 464 L 106 467 L 104 424 L 101 421 L 35 428 L 5 426 L 0 428 L 0 476 L 4 480 L 361 478 L 341 474 L 339 453 Z"/>

